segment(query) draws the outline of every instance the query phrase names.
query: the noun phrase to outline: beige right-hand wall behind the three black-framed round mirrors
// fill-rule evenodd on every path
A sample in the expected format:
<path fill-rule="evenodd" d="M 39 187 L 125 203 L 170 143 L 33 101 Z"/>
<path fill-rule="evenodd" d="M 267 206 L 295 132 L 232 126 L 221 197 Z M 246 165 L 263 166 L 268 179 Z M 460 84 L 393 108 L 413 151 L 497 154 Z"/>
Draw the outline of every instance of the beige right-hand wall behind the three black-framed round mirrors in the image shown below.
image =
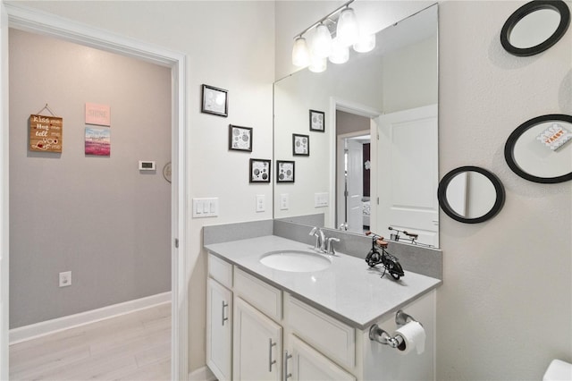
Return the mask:
<path fill-rule="evenodd" d="M 393 2 L 354 4 L 358 17 L 361 7 L 380 23 L 393 14 L 385 9 Z M 440 3 L 440 174 L 479 165 L 507 190 L 504 209 L 489 222 L 460 224 L 441 213 L 440 381 L 539 380 L 551 359 L 572 362 L 572 183 L 527 182 L 503 157 L 520 123 L 572 114 L 572 30 L 541 55 L 509 55 L 499 34 L 522 4 Z M 321 6 L 276 4 L 277 78 L 293 72 L 292 38 L 328 12 Z"/>

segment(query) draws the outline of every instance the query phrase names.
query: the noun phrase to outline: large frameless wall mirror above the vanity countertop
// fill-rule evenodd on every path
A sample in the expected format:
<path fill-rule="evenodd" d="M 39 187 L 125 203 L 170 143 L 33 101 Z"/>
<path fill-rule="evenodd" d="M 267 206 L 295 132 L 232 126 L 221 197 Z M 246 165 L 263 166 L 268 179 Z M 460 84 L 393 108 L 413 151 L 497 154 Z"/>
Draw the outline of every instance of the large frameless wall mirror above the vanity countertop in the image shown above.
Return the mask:
<path fill-rule="evenodd" d="M 327 228 L 388 238 L 392 226 L 438 247 L 438 5 L 376 41 L 275 83 L 274 160 L 294 160 L 296 182 L 274 184 L 274 218 L 324 214 Z M 309 110 L 324 113 L 324 131 L 310 131 Z M 308 136 L 308 156 L 293 155 L 293 134 Z"/>

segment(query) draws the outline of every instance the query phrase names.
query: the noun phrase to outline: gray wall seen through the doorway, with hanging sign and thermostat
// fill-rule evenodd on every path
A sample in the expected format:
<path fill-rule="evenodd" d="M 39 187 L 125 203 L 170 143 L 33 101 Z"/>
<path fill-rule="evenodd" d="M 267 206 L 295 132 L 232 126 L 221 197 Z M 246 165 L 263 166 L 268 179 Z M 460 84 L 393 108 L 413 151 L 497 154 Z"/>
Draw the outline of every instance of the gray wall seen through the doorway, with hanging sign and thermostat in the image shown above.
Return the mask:
<path fill-rule="evenodd" d="M 46 102 L 61 154 L 28 150 Z M 86 102 L 111 106 L 111 157 L 84 154 Z M 170 69 L 10 30 L 10 140 L 11 328 L 171 290 Z"/>

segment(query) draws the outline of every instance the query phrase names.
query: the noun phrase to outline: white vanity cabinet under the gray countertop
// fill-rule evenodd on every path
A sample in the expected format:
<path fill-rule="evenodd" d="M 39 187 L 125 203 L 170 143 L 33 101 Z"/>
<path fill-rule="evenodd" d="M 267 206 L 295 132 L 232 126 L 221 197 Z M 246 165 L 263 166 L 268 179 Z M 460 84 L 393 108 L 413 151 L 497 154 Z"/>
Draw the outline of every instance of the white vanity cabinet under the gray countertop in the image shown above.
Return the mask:
<path fill-rule="evenodd" d="M 214 273 L 223 271 L 214 275 L 211 268 Z M 212 254 L 209 275 L 207 365 L 219 380 L 434 380 L 434 291 L 402 307 L 423 324 L 426 341 L 423 353 L 401 354 L 371 341 L 369 326 L 356 327 L 344 318 L 334 318 Z M 228 289 L 214 276 L 230 282 L 225 284 Z M 223 315 L 225 305 L 233 305 L 232 315 Z M 215 333 L 225 317 L 232 325 Z M 395 314 L 385 317 L 374 323 L 393 335 L 398 329 Z M 232 340 L 228 355 L 226 329 L 231 329 Z M 221 353 L 214 353 L 215 348 Z"/>

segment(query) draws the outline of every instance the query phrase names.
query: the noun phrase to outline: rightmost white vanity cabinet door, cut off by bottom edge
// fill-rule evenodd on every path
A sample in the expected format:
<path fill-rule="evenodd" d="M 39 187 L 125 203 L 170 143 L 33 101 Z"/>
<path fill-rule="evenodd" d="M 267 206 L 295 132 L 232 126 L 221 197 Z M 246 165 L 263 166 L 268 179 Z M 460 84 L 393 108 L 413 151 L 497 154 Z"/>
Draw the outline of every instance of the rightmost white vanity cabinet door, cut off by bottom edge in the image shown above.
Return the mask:
<path fill-rule="evenodd" d="M 292 381 L 356 381 L 344 369 L 326 358 L 322 353 L 316 351 L 307 343 L 299 340 L 298 337 L 289 336 L 290 360 L 286 360 L 284 367 Z M 288 357 L 288 356 L 287 356 Z"/>

